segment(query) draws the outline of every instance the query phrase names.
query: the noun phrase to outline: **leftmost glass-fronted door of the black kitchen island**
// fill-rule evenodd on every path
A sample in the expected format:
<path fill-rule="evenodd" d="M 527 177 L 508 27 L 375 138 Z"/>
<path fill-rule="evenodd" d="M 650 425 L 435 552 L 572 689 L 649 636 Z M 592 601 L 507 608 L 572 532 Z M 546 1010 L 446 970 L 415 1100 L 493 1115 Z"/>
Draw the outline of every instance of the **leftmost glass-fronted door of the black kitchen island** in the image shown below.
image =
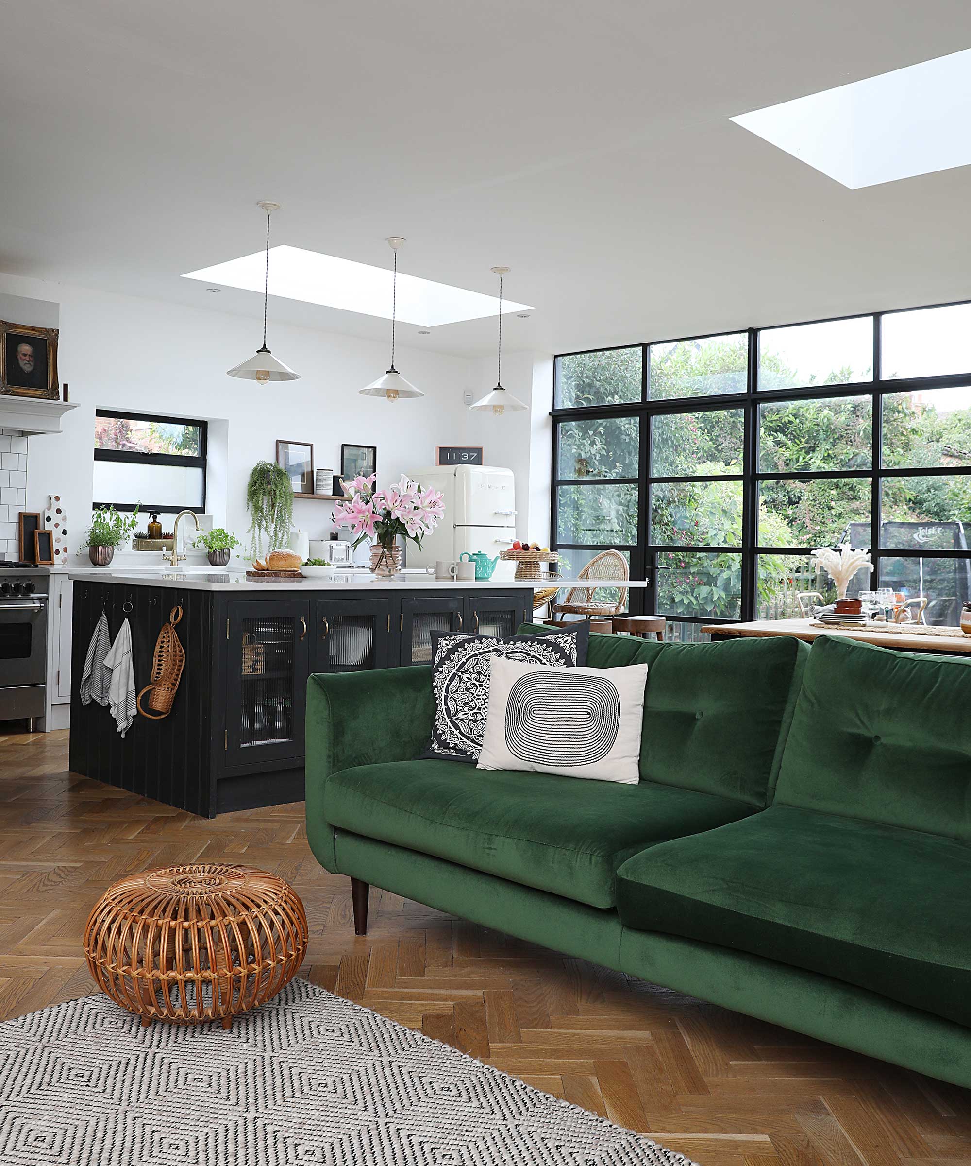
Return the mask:
<path fill-rule="evenodd" d="M 226 764 L 303 756 L 307 600 L 228 604 Z"/>

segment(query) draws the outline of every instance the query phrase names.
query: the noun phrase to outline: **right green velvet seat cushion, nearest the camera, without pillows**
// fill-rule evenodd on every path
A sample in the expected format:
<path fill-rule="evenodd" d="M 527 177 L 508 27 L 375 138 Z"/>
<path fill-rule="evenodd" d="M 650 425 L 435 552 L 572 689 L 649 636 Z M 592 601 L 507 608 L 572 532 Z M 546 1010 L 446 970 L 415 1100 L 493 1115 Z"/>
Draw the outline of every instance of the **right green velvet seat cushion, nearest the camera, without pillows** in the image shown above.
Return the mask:
<path fill-rule="evenodd" d="M 822 972 L 971 1025 L 971 847 L 777 806 L 618 871 L 625 926 Z"/>

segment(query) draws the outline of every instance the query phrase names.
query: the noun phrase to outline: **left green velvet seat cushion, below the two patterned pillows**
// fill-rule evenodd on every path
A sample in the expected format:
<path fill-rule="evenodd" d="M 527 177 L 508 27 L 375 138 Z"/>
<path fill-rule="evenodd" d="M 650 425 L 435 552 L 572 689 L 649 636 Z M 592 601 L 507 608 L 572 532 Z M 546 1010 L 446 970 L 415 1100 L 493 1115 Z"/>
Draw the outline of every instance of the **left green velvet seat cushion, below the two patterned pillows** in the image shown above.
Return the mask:
<path fill-rule="evenodd" d="M 473 770 L 460 761 L 361 765 L 328 778 L 324 817 L 592 907 L 613 907 L 617 868 L 645 847 L 751 813 L 743 802 L 641 782 Z"/>

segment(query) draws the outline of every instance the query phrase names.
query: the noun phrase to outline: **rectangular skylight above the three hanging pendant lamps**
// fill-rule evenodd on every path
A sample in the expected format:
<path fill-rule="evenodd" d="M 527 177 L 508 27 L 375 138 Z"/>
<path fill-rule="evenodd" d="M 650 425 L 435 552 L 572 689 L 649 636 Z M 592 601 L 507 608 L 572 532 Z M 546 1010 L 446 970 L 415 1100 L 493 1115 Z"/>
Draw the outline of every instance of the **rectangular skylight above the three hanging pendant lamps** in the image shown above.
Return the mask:
<path fill-rule="evenodd" d="M 263 290 L 266 252 L 258 251 L 225 264 L 187 272 L 183 279 L 203 280 L 223 287 Z M 359 311 L 365 316 L 392 318 L 392 272 L 386 267 L 357 264 L 351 259 L 322 255 L 302 247 L 270 247 L 269 294 L 303 300 L 325 308 Z M 502 300 L 502 310 L 528 311 L 529 304 Z M 397 318 L 407 324 L 434 328 L 463 319 L 499 314 L 499 297 L 467 292 L 397 273 Z"/>

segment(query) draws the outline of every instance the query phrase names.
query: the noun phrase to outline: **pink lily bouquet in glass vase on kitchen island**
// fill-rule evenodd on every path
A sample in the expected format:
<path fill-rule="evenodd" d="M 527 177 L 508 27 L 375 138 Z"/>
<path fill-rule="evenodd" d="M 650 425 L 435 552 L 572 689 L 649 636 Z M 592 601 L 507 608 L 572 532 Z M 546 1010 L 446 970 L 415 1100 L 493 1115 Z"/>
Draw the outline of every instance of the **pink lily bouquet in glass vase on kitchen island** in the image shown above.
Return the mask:
<path fill-rule="evenodd" d="M 418 547 L 425 534 L 431 534 L 445 513 L 444 498 L 438 490 L 422 490 L 417 482 L 402 473 L 401 480 L 387 490 L 374 489 L 375 475 L 357 477 L 344 484 L 347 498 L 333 507 L 338 527 L 349 527 L 354 535 L 353 546 L 365 539 L 375 539 L 371 550 L 371 569 L 375 575 L 395 575 L 401 569 L 401 548 L 397 536 L 413 539 Z"/>

